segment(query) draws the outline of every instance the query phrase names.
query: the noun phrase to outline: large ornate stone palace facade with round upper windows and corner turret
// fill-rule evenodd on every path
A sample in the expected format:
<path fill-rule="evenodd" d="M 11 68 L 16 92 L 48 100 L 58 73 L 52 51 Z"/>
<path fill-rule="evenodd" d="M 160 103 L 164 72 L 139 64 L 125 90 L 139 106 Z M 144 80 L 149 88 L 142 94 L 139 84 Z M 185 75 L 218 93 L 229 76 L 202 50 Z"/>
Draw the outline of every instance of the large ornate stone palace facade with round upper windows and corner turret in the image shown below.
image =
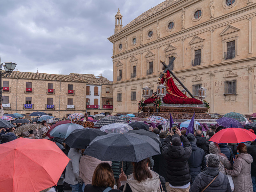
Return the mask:
<path fill-rule="evenodd" d="M 124 27 L 118 11 L 108 38 L 113 113 L 137 113 L 142 88 L 156 91 L 159 60 L 173 56 L 172 71 L 194 96 L 207 89 L 211 113 L 255 112 L 255 10 L 254 0 L 166 0 Z"/>

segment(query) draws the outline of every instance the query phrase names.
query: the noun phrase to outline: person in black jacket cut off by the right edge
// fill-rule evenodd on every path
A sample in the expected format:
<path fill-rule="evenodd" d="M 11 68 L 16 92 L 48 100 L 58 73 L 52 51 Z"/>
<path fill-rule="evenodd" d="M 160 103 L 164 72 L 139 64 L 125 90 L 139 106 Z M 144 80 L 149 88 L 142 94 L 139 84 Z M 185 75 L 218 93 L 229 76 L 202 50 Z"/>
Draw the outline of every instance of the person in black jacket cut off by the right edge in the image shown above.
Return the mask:
<path fill-rule="evenodd" d="M 251 154 L 253 162 L 251 165 L 252 187 L 253 192 L 256 192 L 256 142 L 252 141 L 251 145 L 247 147 L 247 152 Z"/>

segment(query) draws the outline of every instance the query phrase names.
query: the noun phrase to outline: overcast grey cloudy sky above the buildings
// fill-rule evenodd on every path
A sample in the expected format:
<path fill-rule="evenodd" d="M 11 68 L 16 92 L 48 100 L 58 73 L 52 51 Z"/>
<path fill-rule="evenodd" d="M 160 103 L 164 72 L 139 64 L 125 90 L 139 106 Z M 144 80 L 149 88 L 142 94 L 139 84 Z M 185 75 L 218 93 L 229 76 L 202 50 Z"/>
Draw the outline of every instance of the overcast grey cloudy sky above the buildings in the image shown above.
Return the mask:
<path fill-rule="evenodd" d="M 113 80 L 118 7 L 123 26 L 163 0 L 2 0 L 0 55 L 19 71 L 86 73 Z"/>

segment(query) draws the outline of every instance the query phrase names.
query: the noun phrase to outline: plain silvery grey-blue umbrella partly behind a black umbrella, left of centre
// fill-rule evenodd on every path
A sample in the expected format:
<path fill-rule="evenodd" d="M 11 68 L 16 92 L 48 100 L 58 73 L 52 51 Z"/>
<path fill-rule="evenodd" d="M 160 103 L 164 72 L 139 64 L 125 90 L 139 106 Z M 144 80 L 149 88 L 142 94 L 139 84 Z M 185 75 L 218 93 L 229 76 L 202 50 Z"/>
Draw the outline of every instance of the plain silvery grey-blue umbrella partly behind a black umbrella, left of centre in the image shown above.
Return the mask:
<path fill-rule="evenodd" d="M 52 137 L 67 138 L 68 135 L 75 129 L 84 129 L 84 127 L 75 123 L 61 124 L 54 127 L 49 133 Z"/>

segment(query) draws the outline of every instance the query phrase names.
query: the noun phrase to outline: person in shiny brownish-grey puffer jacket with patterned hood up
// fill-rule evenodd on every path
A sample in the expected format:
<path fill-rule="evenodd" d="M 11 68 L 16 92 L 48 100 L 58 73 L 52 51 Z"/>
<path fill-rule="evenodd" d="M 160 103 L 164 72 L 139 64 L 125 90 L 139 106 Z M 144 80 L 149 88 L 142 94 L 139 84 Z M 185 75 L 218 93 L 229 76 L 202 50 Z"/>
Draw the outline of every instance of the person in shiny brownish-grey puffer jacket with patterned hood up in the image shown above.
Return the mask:
<path fill-rule="evenodd" d="M 223 153 L 220 153 L 220 147 L 219 147 L 218 143 L 211 142 L 209 145 L 209 151 L 211 154 L 215 154 L 219 157 L 219 159 L 220 159 L 219 171 L 222 172 L 224 175 L 226 175 L 227 173 L 225 172 L 225 168 L 231 169 L 232 165 L 231 165 L 230 161 L 228 160 L 227 156 L 225 156 Z M 210 154 L 205 156 L 206 160 L 209 155 Z"/>

